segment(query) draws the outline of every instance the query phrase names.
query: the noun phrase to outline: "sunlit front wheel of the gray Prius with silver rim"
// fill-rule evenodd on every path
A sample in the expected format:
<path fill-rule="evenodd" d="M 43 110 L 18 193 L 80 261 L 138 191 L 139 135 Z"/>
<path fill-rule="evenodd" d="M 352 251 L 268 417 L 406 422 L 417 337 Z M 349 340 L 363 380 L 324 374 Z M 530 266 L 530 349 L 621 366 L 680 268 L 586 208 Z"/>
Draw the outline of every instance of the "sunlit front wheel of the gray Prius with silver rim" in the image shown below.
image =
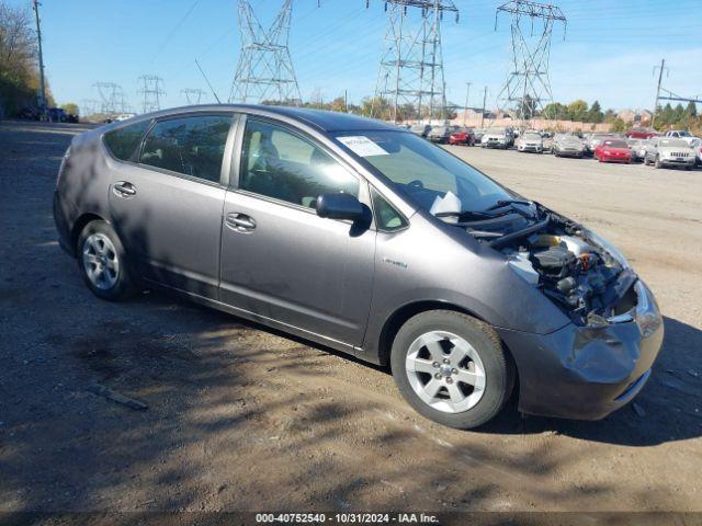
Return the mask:
<path fill-rule="evenodd" d="M 458 430 L 495 418 L 514 382 L 514 366 L 495 331 L 450 310 L 429 310 L 410 318 L 395 336 L 390 365 L 400 393 L 418 413 Z M 468 378 L 473 385 L 465 381 Z"/>

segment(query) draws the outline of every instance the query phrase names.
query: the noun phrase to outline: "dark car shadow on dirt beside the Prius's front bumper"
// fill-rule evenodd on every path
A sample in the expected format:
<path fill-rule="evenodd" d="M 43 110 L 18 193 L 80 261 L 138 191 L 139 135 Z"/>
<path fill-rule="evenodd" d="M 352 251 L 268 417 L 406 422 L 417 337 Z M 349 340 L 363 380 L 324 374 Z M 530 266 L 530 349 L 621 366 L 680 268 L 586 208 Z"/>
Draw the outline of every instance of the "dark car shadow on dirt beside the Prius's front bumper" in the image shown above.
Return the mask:
<path fill-rule="evenodd" d="M 666 335 L 648 384 L 634 401 L 600 421 L 520 418 L 512 397 L 482 433 L 556 433 L 624 446 L 655 446 L 702 435 L 702 331 L 665 317 Z"/>

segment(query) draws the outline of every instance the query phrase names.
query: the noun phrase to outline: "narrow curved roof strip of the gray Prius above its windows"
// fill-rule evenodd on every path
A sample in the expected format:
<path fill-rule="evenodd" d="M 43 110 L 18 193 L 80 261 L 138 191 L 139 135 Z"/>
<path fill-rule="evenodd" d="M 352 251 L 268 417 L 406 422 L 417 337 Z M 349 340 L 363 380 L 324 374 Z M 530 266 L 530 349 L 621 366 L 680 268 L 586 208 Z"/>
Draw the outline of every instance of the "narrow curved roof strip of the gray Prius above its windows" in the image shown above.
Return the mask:
<path fill-rule="evenodd" d="M 393 130 L 401 132 L 400 128 L 392 124 L 384 123 L 375 118 L 360 117 L 347 113 L 328 112 L 324 110 L 310 110 L 307 107 L 296 106 L 268 106 L 262 104 L 207 104 L 195 106 L 174 107 L 162 110 L 148 115 L 139 115 L 143 117 L 158 118 L 181 113 L 193 112 L 216 112 L 216 111 L 237 111 L 247 114 L 281 116 L 288 119 L 297 121 L 301 124 L 313 126 L 325 133 L 332 132 L 354 132 L 354 130 Z"/>

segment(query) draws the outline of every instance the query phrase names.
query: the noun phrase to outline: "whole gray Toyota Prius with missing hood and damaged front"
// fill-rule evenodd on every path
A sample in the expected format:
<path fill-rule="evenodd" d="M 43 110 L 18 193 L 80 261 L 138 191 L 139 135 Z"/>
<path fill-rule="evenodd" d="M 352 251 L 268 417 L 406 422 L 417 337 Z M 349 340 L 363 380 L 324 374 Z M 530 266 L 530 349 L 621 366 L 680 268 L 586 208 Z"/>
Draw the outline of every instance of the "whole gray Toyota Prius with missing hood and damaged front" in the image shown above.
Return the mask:
<path fill-rule="evenodd" d="M 392 368 L 442 424 L 601 419 L 648 379 L 650 290 L 587 227 L 408 130 L 295 107 L 169 110 L 77 136 L 54 215 L 100 298 L 165 288 Z"/>

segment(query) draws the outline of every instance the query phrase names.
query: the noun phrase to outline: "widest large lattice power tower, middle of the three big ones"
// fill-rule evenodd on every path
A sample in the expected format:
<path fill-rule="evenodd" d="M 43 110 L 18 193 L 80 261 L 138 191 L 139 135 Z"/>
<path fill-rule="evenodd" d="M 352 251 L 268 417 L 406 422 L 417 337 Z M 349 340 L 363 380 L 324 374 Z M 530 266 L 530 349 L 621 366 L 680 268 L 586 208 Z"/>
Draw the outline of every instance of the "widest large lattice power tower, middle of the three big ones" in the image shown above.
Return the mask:
<path fill-rule="evenodd" d="M 381 59 L 374 105 L 389 103 L 394 123 L 403 107 L 418 119 L 427 116 L 431 121 L 435 115 L 445 118 L 441 22 L 446 11 L 455 13 L 457 22 L 458 9 L 452 0 L 386 0 L 385 10 L 389 15 L 387 47 Z M 420 14 L 419 23 L 410 20 L 411 12 Z"/>

